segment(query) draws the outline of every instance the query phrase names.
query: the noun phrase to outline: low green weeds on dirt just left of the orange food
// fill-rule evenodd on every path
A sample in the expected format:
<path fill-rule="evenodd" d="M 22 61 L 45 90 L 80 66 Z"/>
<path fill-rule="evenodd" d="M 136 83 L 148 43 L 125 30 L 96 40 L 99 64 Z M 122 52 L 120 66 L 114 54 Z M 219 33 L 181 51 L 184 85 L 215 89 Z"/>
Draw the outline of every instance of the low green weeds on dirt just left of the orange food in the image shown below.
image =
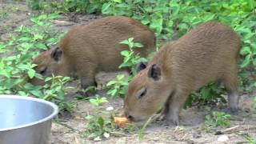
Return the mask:
<path fill-rule="evenodd" d="M 137 130 L 137 127 L 130 123 L 126 123 L 125 127 L 118 126 L 114 122 L 116 114 L 113 110 L 102 110 L 99 107 L 108 102 L 106 98 L 96 95 L 96 98 L 90 98 L 89 102 L 94 106 L 95 111 L 94 114 L 86 116 L 86 128 L 82 132 L 85 138 L 100 141 L 102 138 L 109 138 L 112 135 L 120 136 Z"/>

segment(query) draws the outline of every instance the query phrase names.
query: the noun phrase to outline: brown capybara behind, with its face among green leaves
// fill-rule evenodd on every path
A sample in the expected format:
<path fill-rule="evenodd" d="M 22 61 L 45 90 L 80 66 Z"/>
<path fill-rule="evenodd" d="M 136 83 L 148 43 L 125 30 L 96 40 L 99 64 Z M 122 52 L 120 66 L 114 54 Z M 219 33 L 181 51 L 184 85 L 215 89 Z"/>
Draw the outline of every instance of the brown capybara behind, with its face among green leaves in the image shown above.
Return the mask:
<path fill-rule="evenodd" d="M 100 71 L 116 71 L 122 63 L 122 50 L 128 46 L 119 44 L 127 38 L 142 43 L 135 49 L 142 57 L 155 49 L 155 36 L 147 26 L 123 16 L 106 17 L 85 26 L 74 26 L 62 38 L 57 48 L 38 55 L 32 63 L 43 76 L 76 74 L 82 88 L 94 84 L 94 76 Z M 31 83 L 42 85 L 43 81 L 31 79 Z"/>

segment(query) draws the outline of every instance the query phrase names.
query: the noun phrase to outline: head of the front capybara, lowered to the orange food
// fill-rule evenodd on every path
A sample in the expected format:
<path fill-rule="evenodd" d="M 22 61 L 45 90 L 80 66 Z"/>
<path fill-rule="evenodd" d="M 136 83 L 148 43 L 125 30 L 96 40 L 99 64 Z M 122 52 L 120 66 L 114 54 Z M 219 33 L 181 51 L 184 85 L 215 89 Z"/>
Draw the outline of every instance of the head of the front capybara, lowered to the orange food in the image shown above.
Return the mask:
<path fill-rule="evenodd" d="M 138 64 L 138 74 L 131 80 L 126 92 L 124 114 L 131 122 L 145 122 L 162 108 L 170 90 L 158 64 Z"/>

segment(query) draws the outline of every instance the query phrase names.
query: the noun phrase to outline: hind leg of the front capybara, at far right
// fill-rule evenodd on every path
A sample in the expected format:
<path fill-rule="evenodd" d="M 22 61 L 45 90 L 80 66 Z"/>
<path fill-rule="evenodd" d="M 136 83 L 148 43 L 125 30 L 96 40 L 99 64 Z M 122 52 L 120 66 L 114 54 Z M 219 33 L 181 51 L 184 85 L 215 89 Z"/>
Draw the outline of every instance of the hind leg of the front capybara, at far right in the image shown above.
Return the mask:
<path fill-rule="evenodd" d="M 237 73 L 235 72 L 234 74 L 233 73 L 226 74 L 224 78 L 224 84 L 225 84 L 226 90 L 228 91 L 230 113 L 237 114 L 238 102 L 239 102 Z"/>

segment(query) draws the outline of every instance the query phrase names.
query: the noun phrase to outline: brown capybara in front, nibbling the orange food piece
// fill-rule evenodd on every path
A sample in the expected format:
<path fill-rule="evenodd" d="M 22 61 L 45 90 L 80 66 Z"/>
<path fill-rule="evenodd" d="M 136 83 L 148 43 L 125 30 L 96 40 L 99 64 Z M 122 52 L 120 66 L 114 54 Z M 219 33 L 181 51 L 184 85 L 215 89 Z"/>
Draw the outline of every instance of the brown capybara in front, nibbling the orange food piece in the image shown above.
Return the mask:
<path fill-rule="evenodd" d="M 238 111 L 238 35 L 218 22 L 206 22 L 174 42 L 167 42 L 145 64 L 126 92 L 124 114 L 138 124 L 162 109 L 166 122 L 179 124 L 179 111 L 193 90 L 221 81 L 231 112 Z"/>

